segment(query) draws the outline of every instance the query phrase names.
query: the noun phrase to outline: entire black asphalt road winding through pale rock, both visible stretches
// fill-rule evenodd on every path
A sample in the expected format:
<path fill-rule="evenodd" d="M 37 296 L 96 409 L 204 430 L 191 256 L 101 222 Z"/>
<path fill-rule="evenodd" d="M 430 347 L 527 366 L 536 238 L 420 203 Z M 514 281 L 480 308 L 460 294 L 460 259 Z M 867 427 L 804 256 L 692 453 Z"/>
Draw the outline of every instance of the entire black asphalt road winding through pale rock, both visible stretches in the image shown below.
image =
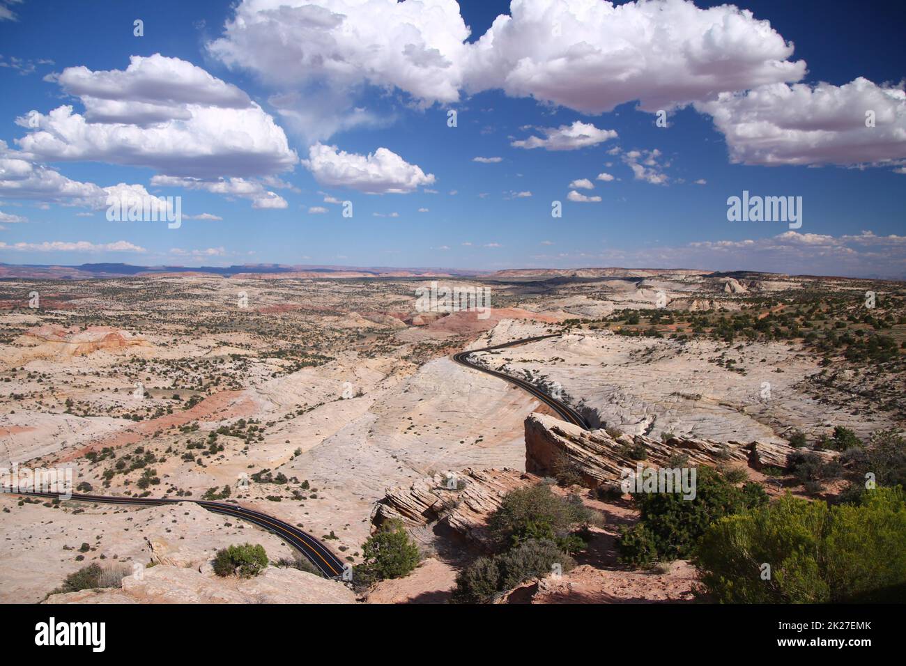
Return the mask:
<path fill-rule="evenodd" d="M 531 384 L 528 381 L 516 379 L 516 377 L 511 377 L 508 374 L 504 374 L 503 372 L 488 370 L 487 368 L 483 368 L 480 365 L 469 361 L 468 358 L 470 354 L 473 354 L 475 352 L 489 352 L 496 349 L 504 349 L 506 347 L 515 347 L 518 344 L 534 343 L 537 340 L 556 337 L 557 334 L 558 333 L 554 333 L 552 335 L 538 335 L 534 338 L 515 340 L 512 343 L 496 344 L 493 347 L 484 347 L 483 349 L 473 349 L 469 350 L 468 352 L 459 352 L 453 354 L 453 361 L 479 372 L 493 374 L 495 377 L 499 377 L 504 381 L 515 384 L 523 391 L 528 391 L 529 393 L 531 393 L 539 401 L 544 402 L 552 410 L 559 414 L 563 420 L 569 423 L 573 423 L 577 426 L 581 426 L 585 430 L 590 430 L 588 423 L 584 420 L 583 416 L 579 414 L 579 412 L 573 410 L 572 407 L 565 404 L 564 402 L 557 400 L 544 391 L 541 391 L 541 389 L 537 388 L 534 384 Z M 56 493 L 19 492 L 13 494 L 29 497 L 59 497 L 59 495 Z M 236 504 L 208 501 L 207 499 L 185 499 L 183 497 L 111 497 L 104 495 L 72 494 L 71 499 L 80 502 L 98 502 L 101 504 L 128 504 L 146 507 L 159 507 L 161 505 L 176 504 L 178 502 L 194 502 L 195 504 L 198 504 L 199 507 L 206 508 L 208 511 L 211 511 L 213 513 L 223 514 L 224 516 L 235 516 L 236 518 L 239 518 L 241 520 L 246 520 L 249 523 L 263 527 L 268 532 L 272 532 L 277 536 L 281 536 L 291 545 L 294 545 L 294 547 L 298 549 L 299 552 L 302 553 L 308 559 L 308 561 L 311 562 L 315 567 L 317 567 L 318 571 L 320 571 L 327 578 L 339 578 L 343 572 L 345 563 L 343 563 L 343 561 L 339 557 L 334 555 L 326 545 L 323 545 L 323 543 L 316 539 L 314 536 L 308 534 L 307 532 L 304 532 L 298 527 L 292 526 L 289 523 L 280 520 L 279 518 L 275 518 L 274 516 L 267 516 L 266 514 L 260 513 L 259 511 L 254 511 L 246 507 L 240 507 Z"/>

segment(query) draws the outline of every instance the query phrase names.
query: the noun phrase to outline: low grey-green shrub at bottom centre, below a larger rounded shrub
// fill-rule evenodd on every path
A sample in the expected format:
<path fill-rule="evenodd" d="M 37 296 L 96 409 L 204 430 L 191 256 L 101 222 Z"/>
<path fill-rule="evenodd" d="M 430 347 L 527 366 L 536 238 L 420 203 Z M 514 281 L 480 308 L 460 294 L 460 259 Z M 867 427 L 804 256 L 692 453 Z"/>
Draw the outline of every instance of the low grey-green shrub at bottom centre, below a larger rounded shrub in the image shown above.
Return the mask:
<path fill-rule="evenodd" d="M 459 572 L 452 601 L 487 603 L 524 581 L 551 574 L 554 565 L 567 572 L 575 562 L 550 539 L 528 539 L 503 555 L 479 557 Z"/>

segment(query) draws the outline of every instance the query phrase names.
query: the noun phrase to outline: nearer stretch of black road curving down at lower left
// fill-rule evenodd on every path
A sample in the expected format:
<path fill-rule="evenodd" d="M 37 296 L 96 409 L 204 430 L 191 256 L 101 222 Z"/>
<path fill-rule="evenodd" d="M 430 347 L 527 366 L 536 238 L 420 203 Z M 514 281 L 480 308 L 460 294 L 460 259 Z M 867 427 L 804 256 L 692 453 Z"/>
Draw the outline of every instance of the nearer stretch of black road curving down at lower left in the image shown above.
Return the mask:
<path fill-rule="evenodd" d="M 18 492 L 13 495 L 26 495 L 31 497 L 60 497 L 58 493 L 36 493 L 36 492 Z M 249 523 L 254 523 L 263 527 L 268 532 L 276 536 L 283 537 L 287 542 L 293 545 L 302 553 L 309 562 L 311 562 L 318 571 L 327 578 L 339 578 L 343 571 L 344 563 L 342 560 L 333 555 L 331 550 L 321 543 L 318 539 L 298 527 L 289 523 L 267 516 L 266 514 L 254 511 L 250 508 L 240 507 L 235 504 L 226 502 L 212 502 L 207 499 L 185 499 L 182 497 L 111 497 L 103 495 L 78 495 L 72 494 L 69 499 L 75 499 L 80 502 L 99 502 L 102 504 L 131 504 L 143 505 L 150 507 L 159 507 L 164 504 L 176 504 L 177 502 L 194 502 L 198 506 L 206 508 L 208 511 L 224 516 L 235 516 Z"/>

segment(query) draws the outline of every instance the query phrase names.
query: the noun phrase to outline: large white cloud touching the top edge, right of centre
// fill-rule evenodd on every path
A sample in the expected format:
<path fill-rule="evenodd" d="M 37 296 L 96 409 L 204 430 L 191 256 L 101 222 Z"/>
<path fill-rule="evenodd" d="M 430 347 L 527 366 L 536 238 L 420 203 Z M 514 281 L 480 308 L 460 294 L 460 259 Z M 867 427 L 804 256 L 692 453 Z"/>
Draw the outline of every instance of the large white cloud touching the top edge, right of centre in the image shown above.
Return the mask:
<path fill-rule="evenodd" d="M 805 63 L 792 54 L 767 21 L 734 5 L 514 0 L 467 53 L 467 88 L 586 113 L 636 100 L 657 111 L 798 81 Z"/>

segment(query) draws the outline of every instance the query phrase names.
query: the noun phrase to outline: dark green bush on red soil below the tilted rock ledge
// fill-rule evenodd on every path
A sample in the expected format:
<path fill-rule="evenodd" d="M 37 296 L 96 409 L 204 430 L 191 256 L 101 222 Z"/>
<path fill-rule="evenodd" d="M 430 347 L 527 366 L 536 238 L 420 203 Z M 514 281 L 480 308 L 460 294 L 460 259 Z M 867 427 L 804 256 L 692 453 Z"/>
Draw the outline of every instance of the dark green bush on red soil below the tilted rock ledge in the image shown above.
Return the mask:
<path fill-rule="evenodd" d="M 765 489 L 759 484 L 735 487 L 718 471 L 707 467 L 698 468 L 694 499 L 683 499 L 678 492 L 634 493 L 632 497 L 641 516 L 635 526 L 621 530 L 618 547 L 620 561 L 636 566 L 686 558 L 718 518 L 767 501 Z M 634 534 L 640 529 L 644 532 Z"/>

